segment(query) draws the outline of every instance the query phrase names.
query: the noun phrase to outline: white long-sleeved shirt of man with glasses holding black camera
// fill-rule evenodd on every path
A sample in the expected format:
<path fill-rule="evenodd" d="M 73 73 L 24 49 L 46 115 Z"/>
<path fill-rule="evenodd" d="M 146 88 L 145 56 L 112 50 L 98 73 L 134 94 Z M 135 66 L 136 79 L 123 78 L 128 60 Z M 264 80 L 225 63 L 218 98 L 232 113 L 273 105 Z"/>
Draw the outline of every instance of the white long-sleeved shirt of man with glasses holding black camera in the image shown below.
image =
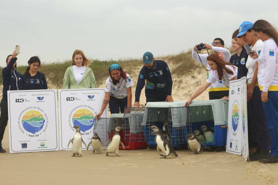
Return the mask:
<path fill-rule="evenodd" d="M 231 57 L 231 54 L 229 52 L 228 49 L 226 48 L 222 48 L 222 47 L 214 47 L 212 46 L 212 50 L 215 51 L 215 52 L 220 52 L 222 51 L 223 52 L 223 55 L 224 55 L 224 58 L 225 58 L 225 61 L 226 62 L 229 62 L 230 61 L 230 57 Z M 204 66 L 207 66 L 207 70 L 210 70 L 211 68 L 209 67 L 208 63 L 207 63 L 207 57 L 208 57 L 208 54 L 199 54 L 202 62 L 200 61 L 200 58 L 198 57 L 198 53 L 197 51 L 195 51 L 194 49 L 192 49 L 192 57 L 195 61 L 197 61 L 199 64 L 202 64 Z M 207 79 L 209 78 L 210 76 L 210 73 L 212 73 L 212 71 L 207 71 Z M 220 90 L 229 90 L 229 88 L 227 88 L 226 86 L 224 86 L 223 84 L 219 83 L 219 82 L 215 82 L 215 83 L 212 83 L 210 86 L 209 86 L 209 89 L 208 91 L 211 92 L 211 91 L 220 91 Z"/>

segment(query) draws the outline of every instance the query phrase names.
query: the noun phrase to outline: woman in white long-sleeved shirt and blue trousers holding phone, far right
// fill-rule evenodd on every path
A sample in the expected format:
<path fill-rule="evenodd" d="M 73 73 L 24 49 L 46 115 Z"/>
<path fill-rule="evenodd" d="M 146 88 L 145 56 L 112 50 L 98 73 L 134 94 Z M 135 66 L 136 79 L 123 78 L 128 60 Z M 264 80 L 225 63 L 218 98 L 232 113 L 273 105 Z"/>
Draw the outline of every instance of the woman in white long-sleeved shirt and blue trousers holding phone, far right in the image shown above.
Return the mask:
<path fill-rule="evenodd" d="M 259 62 L 258 82 L 271 137 L 270 153 L 260 161 L 276 163 L 278 162 L 278 33 L 265 20 L 257 20 L 252 30 L 255 36 L 265 41 L 259 54 L 255 50 L 253 54 L 248 54 Z"/>

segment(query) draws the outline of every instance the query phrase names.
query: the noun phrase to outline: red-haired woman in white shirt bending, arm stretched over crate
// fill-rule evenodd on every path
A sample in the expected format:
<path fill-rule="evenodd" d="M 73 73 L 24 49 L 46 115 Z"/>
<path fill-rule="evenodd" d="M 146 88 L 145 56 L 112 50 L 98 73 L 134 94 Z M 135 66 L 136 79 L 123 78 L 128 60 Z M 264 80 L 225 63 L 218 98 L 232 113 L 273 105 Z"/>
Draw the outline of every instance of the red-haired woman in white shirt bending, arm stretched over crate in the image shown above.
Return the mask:
<path fill-rule="evenodd" d="M 193 99 L 202 94 L 212 83 L 219 82 L 229 88 L 229 81 L 237 79 L 237 67 L 231 63 L 223 61 L 216 53 L 212 53 L 207 57 L 211 71 L 209 78 L 195 93 L 185 102 L 184 106 L 188 106 Z"/>

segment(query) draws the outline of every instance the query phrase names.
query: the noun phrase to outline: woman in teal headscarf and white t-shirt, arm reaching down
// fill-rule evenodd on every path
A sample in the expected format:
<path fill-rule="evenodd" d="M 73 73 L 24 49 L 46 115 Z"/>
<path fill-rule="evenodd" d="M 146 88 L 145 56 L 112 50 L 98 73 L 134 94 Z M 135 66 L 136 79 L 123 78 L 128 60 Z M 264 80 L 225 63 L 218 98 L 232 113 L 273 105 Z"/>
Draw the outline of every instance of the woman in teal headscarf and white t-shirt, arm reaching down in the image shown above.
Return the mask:
<path fill-rule="evenodd" d="M 105 107 L 109 103 L 111 114 L 123 113 L 125 107 L 131 107 L 131 78 L 118 64 L 109 67 L 110 76 L 105 82 L 105 97 L 102 102 L 101 111 L 95 116 L 100 118 Z"/>

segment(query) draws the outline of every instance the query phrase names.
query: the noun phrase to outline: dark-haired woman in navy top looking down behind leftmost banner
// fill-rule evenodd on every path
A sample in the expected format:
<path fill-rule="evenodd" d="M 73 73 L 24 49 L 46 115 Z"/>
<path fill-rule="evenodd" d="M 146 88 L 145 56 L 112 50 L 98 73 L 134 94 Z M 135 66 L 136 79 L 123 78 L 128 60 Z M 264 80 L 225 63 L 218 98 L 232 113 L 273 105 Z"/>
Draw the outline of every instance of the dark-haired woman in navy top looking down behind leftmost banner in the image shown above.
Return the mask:
<path fill-rule="evenodd" d="M 31 57 L 28 61 L 28 67 L 20 79 L 20 90 L 38 90 L 47 89 L 45 75 L 38 71 L 41 67 L 39 57 Z"/>

